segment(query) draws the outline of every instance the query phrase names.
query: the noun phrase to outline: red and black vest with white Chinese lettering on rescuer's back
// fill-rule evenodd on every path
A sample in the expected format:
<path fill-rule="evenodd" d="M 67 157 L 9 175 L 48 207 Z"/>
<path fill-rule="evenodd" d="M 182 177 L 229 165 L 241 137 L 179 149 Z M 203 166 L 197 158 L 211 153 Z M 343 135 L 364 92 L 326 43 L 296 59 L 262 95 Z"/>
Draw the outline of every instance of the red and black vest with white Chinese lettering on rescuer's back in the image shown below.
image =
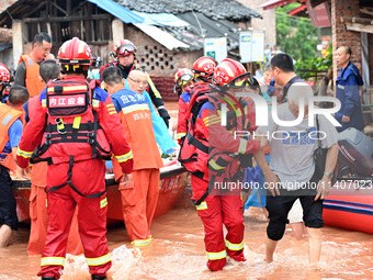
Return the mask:
<path fill-rule="evenodd" d="M 93 99 L 95 80 L 54 80 L 46 89 L 42 105 L 47 108 L 46 128 L 35 157 L 49 164 L 90 158 L 111 159 L 111 147 L 98 123 Z"/>

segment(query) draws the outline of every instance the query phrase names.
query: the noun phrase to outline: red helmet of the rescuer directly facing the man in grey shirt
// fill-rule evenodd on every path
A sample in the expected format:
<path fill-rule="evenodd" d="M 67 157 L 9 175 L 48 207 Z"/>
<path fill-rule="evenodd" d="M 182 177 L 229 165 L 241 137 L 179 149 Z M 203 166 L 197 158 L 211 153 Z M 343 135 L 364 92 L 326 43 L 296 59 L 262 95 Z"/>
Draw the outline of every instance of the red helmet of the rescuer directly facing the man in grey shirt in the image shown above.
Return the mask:
<path fill-rule="evenodd" d="M 246 71 L 244 65 L 234 59 L 225 58 L 215 69 L 213 85 L 226 90 L 253 86 L 253 81 L 251 74 Z"/>

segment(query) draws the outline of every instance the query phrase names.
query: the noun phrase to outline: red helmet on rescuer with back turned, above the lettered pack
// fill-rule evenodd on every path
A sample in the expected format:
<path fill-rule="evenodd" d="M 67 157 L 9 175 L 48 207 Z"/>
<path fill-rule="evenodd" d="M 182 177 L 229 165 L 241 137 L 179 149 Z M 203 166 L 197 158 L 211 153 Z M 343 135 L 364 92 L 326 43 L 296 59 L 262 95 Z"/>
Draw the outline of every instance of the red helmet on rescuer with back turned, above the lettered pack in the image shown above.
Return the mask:
<path fill-rule="evenodd" d="M 74 37 L 61 45 L 57 61 L 65 65 L 92 65 L 93 57 L 89 45 L 78 37 Z"/>

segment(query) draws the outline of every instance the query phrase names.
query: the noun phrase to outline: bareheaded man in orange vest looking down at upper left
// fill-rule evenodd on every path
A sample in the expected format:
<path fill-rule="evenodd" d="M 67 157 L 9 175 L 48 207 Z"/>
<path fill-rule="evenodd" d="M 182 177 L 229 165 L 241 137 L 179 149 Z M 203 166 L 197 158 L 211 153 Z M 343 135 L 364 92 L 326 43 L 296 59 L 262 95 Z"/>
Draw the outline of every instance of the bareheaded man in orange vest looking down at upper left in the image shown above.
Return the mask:
<path fill-rule="evenodd" d="M 47 33 L 41 32 L 34 37 L 33 51 L 20 57 L 15 70 L 14 85 L 26 87 L 30 98 L 41 94 L 45 89 L 45 82 L 39 75 L 39 65 L 43 60 L 54 59 L 50 54 L 52 38 Z"/>

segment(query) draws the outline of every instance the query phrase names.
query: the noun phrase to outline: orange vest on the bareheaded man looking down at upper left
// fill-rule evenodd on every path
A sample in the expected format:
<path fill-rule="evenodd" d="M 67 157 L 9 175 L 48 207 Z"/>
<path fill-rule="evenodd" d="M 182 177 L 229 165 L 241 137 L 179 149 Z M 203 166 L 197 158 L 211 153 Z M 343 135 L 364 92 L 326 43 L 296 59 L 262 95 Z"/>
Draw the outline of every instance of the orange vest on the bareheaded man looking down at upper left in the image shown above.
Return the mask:
<path fill-rule="evenodd" d="M 29 90 L 30 98 L 36 97 L 41 94 L 46 86 L 39 74 L 41 67 L 29 54 L 22 55 L 20 63 L 22 60 L 26 65 L 25 86 Z"/>

